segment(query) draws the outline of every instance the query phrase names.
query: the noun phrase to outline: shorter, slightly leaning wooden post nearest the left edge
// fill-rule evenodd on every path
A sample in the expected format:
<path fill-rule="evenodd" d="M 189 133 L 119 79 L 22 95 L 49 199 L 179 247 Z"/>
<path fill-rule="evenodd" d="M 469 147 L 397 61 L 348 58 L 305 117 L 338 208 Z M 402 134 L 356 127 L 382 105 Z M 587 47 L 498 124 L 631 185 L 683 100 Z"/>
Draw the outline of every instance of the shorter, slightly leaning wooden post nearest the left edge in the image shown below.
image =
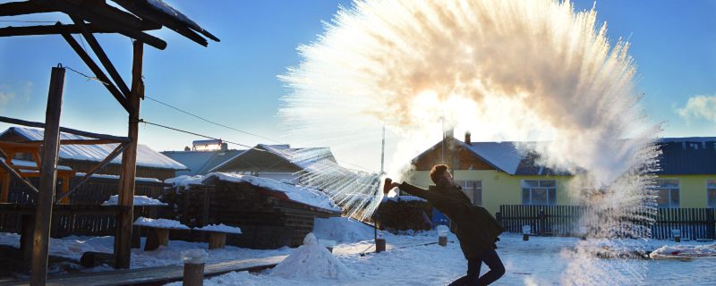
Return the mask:
<path fill-rule="evenodd" d="M 57 184 L 57 152 L 60 147 L 60 113 L 64 88 L 64 68 L 52 68 L 45 113 L 45 138 L 42 144 L 42 165 L 39 172 L 39 194 L 35 210 L 35 231 L 32 236 L 32 267 L 30 284 L 45 285 L 47 252 L 49 250 L 52 205 Z"/>

